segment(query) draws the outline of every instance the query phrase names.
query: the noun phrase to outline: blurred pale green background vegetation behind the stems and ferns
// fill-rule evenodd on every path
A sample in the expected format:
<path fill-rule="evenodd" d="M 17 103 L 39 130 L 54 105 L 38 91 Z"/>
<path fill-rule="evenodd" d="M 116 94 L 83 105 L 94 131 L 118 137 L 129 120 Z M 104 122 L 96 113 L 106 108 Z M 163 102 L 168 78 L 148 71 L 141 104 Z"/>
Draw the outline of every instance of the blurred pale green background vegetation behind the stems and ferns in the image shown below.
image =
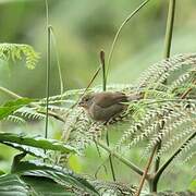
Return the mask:
<path fill-rule="evenodd" d="M 109 52 L 114 34 L 122 21 L 142 2 L 106 0 L 49 0 L 49 22 L 52 25 L 57 50 L 63 74 L 65 89 L 83 88 L 88 84 L 99 65 L 100 49 Z M 169 1 L 151 0 L 137 16 L 123 29 L 111 61 L 109 83 L 130 84 L 151 63 L 162 59 L 166 20 Z M 172 41 L 172 54 L 195 52 L 196 44 L 196 1 L 177 0 Z M 32 45 L 40 53 L 40 61 L 33 71 L 24 68 L 23 62 L 5 63 L 0 61 L 0 86 L 21 96 L 41 98 L 46 95 L 46 8 L 45 0 L 0 0 L 0 42 Z M 60 94 L 58 66 L 52 50 L 51 95 Z M 95 84 L 100 84 L 98 77 Z M 8 97 L 0 95 L 3 102 Z M 17 128 L 10 124 L 0 125 L 1 131 L 44 130 L 41 124 L 30 124 Z M 50 124 L 52 136 L 60 137 L 61 125 Z M 9 130 L 9 131 L 12 131 Z M 39 133 L 40 132 L 34 132 Z M 118 137 L 118 133 L 113 137 Z M 0 146 L 0 168 L 9 170 L 13 151 Z M 72 157 L 70 166 L 79 173 L 94 173 L 100 164 L 95 148 L 88 148 L 86 157 Z M 139 149 L 132 151 L 135 162 L 139 161 Z M 118 168 L 118 179 L 132 183 L 133 174 L 124 167 Z M 175 164 L 168 170 L 160 182 L 161 189 L 185 189 L 192 181 L 189 166 Z M 175 171 L 175 173 L 173 173 Z M 180 174 L 180 175 L 179 175 Z M 106 176 L 103 172 L 101 177 Z M 176 184 L 170 177 L 177 176 Z M 183 176 L 183 177 L 182 177 Z M 135 183 L 135 180 L 134 180 Z M 170 186 L 169 186 L 170 185 Z"/>

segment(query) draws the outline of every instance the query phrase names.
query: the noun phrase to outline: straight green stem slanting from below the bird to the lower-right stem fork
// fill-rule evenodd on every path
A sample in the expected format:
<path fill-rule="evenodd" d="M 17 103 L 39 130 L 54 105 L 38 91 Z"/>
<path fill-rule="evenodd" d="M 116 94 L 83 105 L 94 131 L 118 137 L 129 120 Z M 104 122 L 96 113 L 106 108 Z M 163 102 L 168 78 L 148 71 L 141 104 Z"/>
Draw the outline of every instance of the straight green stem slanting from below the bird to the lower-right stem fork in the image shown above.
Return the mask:
<path fill-rule="evenodd" d="M 98 146 L 100 146 L 102 149 L 105 149 L 106 151 L 108 151 L 110 155 L 112 155 L 113 157 L 115 157 L 117 159 L 119 159 L 122 163 L 126 164 L 128 168 L 131 168 L 135 173 L 137 173 L 138 175 L 143 175 L 143 170 L 140 170 L 137 166 L 135 166 L 134 163 L 132 163 L 130 160 L 123 158 L 121 155 L 112 151 L 108 146 L 106 146 L 105 144 L 97 142 Z M 148 180 L 148 175 L 146 176 L 146 179 Z"/>

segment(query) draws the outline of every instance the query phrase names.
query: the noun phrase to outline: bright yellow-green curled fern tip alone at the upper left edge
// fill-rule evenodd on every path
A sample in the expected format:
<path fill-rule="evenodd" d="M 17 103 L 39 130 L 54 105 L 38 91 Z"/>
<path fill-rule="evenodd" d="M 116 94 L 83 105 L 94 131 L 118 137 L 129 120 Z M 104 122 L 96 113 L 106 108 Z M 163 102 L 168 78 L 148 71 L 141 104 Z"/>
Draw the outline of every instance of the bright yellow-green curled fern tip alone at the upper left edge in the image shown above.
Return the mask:
<path fill-rule="evenodd" d="M 34 69 L 39 54 L 35 52 L 32 46 L 29 45 L 20 45 L 20 44 L 0 44 L 0 59 L 3 61 L 22 60 L 22 57 L 25 57 L 26 66 L 28 69 Z"/>

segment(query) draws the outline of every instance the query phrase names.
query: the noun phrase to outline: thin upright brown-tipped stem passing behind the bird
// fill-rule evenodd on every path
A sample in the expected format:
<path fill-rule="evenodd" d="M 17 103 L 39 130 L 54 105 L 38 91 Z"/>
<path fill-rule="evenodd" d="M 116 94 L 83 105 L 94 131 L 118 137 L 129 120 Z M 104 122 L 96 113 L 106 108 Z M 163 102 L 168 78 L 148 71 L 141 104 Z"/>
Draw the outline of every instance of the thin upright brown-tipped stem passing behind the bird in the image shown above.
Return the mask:
<path fill-rule="evenodd" d="M 106 64 L 105 64 L 105 51 L 103 50 L 100 51 L 100 63 L 102 65 L 102 90 L 106 91 L 106 89 L 107 89 L 107 79 L 106 79 Z M 107 140 L 107 145 L 109 147 L 110 146 L 110 139 L 109 139 L 108 130 L 106 132 L 106 140 Z M 112 179 L 115 182 L 115 172 L 114 172 L 114 168 L 113 168 L 111 154 L 109 155 L 109 162 L 110 162 Z"/>

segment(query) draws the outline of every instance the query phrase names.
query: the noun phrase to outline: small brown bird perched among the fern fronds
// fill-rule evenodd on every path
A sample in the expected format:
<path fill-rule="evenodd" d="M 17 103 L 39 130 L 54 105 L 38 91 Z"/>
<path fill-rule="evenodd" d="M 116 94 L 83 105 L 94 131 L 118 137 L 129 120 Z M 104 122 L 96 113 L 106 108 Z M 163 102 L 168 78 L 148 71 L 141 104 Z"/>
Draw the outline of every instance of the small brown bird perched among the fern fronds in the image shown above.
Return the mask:
<path fill-rule="evenodd" d="M 78 102 L 88 115 L 95 121 L 109 121 L 118 117 L 127 106 L 123 102 L 138 100 L 142 98 L 139 94 L 126 96 L 123 93 L 102 91 L 97 94 L 87 94 Z"/>

